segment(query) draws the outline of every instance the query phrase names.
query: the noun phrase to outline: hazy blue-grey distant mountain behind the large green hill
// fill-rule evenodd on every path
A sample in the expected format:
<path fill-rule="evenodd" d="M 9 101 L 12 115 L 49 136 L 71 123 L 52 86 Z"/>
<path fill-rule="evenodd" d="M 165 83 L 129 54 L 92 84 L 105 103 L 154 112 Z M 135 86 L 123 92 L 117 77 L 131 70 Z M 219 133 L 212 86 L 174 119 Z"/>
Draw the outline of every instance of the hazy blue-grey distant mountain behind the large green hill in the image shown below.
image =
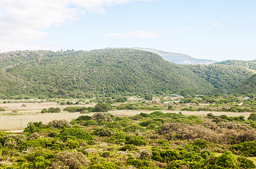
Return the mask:
<path fill-rule="evenodd" d="M 214 60 L 207 60 L 207 59 L 195 59 L 194 57 L 191 57 L 189 55 L 159 51 L 159 50 L 155 50 L 155 49 L 152 49 L 152 48 L 140 48 L 140 47 L 133 47 L 133 48 L 136 49 L 136 50 L 154 52 L 157 55 L 160 55 L 161 57 L 163 57 L 164 60 L 167 60 L 167 61 L 170 61 L 170 62 L 176 63 L 176 64 L 185 64 L 185 65 L 202 64 L 202 65 L 207 65 L 207 64 L 212 64 L 212 63 L 217 62 L 217 61 L 214 61 Z"/>

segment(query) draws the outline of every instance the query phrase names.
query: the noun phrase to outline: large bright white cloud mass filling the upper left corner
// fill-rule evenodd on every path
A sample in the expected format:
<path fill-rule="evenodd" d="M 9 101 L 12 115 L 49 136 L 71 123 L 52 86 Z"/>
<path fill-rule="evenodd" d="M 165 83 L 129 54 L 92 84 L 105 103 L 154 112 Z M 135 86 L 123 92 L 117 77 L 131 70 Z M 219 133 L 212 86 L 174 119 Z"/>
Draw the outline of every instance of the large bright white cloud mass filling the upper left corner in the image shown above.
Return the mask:
<path fill-rule="evenodd" d="M 150 0 L 1 0 L 0 51 L 40 47 L 29 43 L 48 35 L 42 29 L 78 20 L 86 11 L 104 13 L 104 6 L 131 1 Z"/>

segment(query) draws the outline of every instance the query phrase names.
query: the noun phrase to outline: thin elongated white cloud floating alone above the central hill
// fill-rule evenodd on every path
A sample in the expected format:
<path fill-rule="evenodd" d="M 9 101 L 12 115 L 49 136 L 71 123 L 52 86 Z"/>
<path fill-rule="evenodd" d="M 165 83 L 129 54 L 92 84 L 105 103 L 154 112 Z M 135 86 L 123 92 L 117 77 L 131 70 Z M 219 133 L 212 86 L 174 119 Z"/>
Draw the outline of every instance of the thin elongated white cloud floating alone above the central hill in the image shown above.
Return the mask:
<path fill-rule="evenodd" d="M 155 38 L 155 37 L 161 37 L 161 35 L 153 32 L 149 32 L 149 31 L 138 31 L 138 32 L 127 32 L 127 33 L 108 33 L 108 34 L 103 34 L 103 37 Z"/>

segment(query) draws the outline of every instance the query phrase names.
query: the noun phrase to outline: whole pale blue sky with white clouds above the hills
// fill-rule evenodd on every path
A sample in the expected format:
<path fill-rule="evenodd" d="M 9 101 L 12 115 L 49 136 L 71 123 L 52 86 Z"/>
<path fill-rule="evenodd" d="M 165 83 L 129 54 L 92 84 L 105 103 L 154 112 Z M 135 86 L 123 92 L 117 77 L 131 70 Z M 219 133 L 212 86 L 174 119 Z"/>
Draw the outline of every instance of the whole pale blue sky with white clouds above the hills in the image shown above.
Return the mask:
<path fill-rule="evenodd" d="M 1 0 L 0 52 L 144 47 L 256 59 L 256 1 Z"/>

